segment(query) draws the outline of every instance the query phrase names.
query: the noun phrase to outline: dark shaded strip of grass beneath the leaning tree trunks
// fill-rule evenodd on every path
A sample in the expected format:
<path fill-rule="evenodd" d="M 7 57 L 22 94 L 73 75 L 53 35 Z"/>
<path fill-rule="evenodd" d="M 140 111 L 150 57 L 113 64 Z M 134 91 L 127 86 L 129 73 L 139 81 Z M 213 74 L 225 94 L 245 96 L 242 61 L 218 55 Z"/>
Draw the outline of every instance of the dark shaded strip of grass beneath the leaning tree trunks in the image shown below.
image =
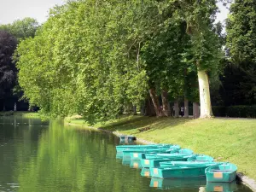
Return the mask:
<path fill-rule="evenodd" d="M 166 127 L 172 127 L 176 125 L 181 125 L 189 122 L 193 119 L 184 118 L 172 118 L 172 117 L 145 117 L 145 116 L 131 116 L 129 118 L 120 118 L 118 122 L 113 122 L 108 125 L 102 125 L 101 128 L 108 131 L 128 131 L 137 129 L 137 133 L 141 128 L 149 128 L 147 132 L 154 131 L 156 129 L 165 129 Z"/>

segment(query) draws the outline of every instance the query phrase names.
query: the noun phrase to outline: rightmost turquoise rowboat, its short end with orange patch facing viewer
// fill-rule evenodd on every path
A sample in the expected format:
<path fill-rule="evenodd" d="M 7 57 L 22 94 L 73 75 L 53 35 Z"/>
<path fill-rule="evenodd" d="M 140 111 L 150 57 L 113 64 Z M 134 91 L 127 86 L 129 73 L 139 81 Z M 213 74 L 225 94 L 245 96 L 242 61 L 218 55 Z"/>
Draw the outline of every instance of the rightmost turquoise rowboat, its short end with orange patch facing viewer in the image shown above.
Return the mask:
<path fill-rule="evenodd" d="M 206 169 L 207 182 L 232 182 L 236 179 L 237 166 L 221 163 Z"/>

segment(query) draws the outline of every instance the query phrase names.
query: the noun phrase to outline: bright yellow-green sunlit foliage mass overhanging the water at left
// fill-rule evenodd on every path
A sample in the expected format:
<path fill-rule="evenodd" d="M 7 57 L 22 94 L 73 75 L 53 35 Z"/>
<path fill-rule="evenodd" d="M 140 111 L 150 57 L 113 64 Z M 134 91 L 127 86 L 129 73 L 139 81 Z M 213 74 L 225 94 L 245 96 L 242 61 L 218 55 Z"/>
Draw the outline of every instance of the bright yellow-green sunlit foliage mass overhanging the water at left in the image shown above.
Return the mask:
<path fill-rule="evenodd" d="M 128 22 L 137 7 L 93 2 L 52 10 L 38 35 L 18 47 L 20 85 L 43 113 L 79 113 L 95 122 L 143 100 L 147 76 L 132 50 L 136 23 Z"/>

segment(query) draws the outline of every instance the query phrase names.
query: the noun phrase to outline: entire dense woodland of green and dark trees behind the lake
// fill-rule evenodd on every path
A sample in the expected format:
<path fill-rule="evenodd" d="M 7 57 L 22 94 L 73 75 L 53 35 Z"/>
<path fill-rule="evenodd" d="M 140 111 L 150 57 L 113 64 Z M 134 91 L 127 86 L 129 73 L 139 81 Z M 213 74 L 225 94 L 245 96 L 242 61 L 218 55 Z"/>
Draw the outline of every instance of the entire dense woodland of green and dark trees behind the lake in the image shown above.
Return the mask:
<path fill-rule="evenodd" d="M 256 4 L 235 0 L 223 32 L 217 3 L 69 1 L 42 26 L 2 25 L 3 106 L 15 95 L 41 113 L 90 123 L 139 110 L 177 117 L 181 105 L 185 118 L 189 107 L 195 118 L 254 117 Z"/>

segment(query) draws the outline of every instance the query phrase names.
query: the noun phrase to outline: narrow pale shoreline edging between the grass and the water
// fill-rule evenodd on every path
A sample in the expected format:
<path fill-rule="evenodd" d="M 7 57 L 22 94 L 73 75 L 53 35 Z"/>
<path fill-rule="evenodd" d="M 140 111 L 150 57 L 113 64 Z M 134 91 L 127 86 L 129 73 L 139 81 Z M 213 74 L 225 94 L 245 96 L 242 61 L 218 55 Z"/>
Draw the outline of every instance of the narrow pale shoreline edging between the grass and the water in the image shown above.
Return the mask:
<path fill-rule="evenodd" d="M 64 125 L 72 125 L 72 126 L 77 126 L 77 127 L 81 127 L 81 128 L 92 129 L 92 130 L 95 130 L 95 131 L 104 131 L 104 132 L 108 132 L 110 134 L 113 134 L 117 137 L 127 136 L 125 134 L 122 134 L 119 131 L 108 131 L 108 130 L 105 130 L 101 127 L 96 128 L 96 127 L 93 127 L 93 126 L 77 125 L 77 124 L 67 123 L 67 122 L 64 122 Z M 138 137 L 136 137 L 136 143 L 155 144 L 154 142 L 150 142 L 150 141 L 144 140 L 142 138 L 138 138 Z M 246 185 L 249 189 L 253 190 L 253 192 L 256 192 L 256 181 L 253 178 L 245 176 L 242 172 L 236 172 L 236 177 L 238 177 L 241 180 L 241 183 Z"/>

